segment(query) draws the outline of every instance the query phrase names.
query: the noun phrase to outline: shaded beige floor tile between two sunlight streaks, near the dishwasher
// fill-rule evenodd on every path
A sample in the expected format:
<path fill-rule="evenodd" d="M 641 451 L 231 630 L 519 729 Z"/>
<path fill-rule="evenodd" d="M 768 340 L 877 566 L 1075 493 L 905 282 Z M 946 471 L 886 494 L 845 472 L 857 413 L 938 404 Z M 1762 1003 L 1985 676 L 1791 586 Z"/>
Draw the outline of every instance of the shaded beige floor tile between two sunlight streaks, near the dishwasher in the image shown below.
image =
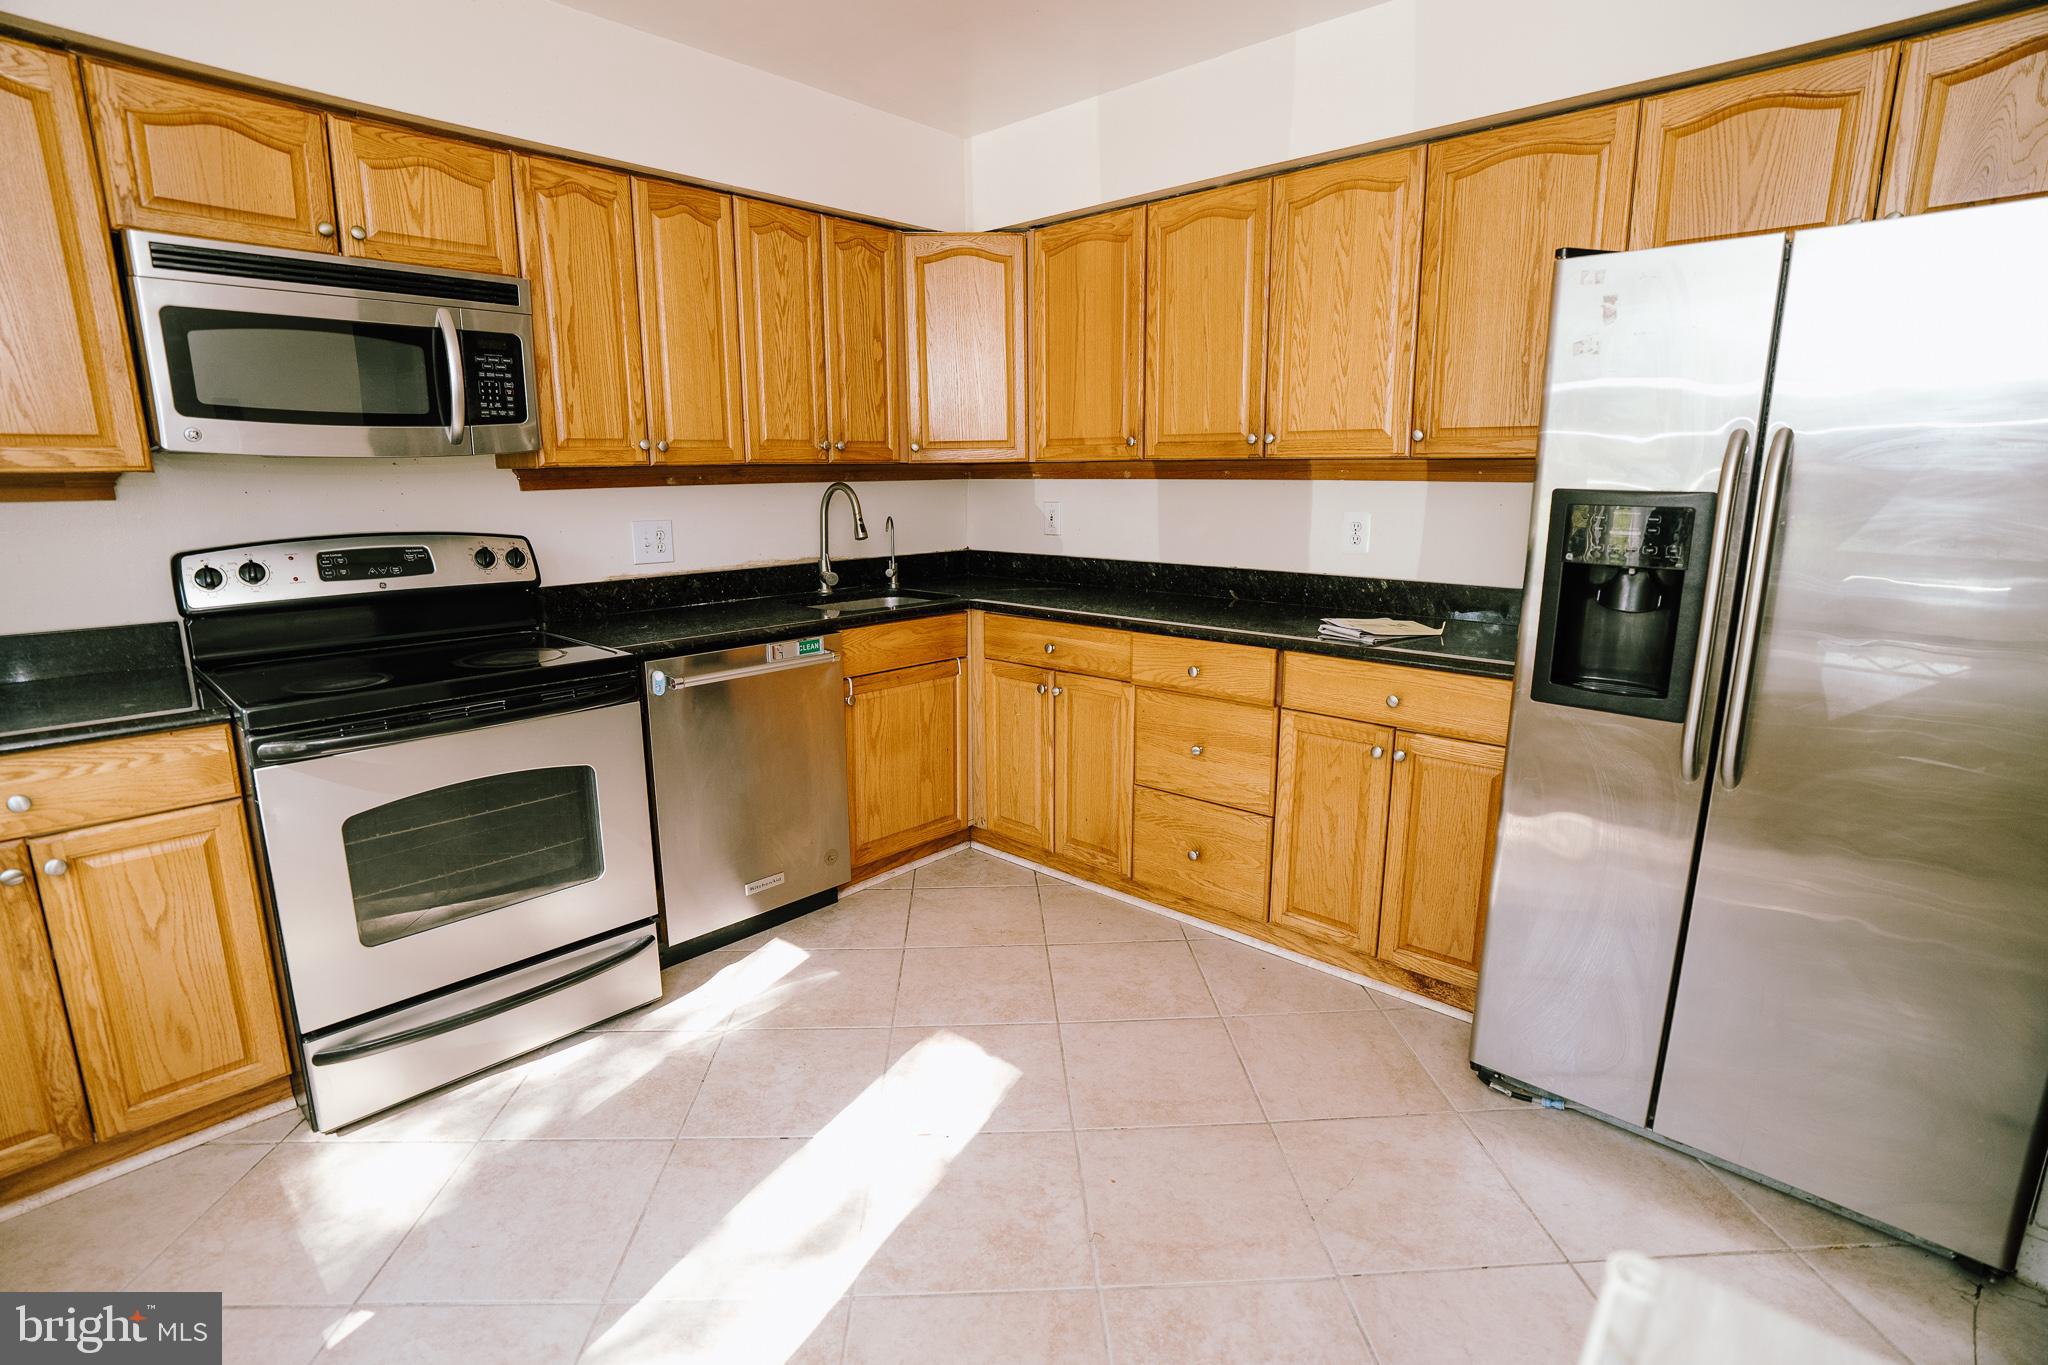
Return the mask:
<path fill-rule="evenodd" d="M 803 1138 L 881 1081 L 889 1029 L 741 1029 L 719 1040 L 682 1132 Z"/>

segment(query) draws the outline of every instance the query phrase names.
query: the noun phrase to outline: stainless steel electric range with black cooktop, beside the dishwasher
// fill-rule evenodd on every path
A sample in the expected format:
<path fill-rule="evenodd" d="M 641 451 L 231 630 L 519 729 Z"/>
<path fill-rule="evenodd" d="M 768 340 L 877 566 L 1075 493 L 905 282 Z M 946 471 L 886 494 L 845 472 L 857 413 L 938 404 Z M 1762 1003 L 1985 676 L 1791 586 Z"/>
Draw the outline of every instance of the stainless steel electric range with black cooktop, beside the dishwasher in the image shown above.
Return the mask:
<path fill-rule="evenodd" d="M 238 544 L 172 575 L 242 733 L 313 1128 L 659 997 L 637 667 L 543 630 L 522 536 Z"/>

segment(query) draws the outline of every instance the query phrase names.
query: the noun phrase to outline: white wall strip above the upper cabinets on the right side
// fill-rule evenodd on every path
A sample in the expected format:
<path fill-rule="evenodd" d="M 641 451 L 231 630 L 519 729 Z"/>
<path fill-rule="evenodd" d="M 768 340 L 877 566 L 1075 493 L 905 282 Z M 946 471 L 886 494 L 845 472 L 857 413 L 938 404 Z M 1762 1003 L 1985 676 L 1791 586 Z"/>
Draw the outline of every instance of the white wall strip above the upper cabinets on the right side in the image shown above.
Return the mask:
<path fill-rule="evenodd" d="M 969 141 L 1004 227 L 1911 18 L 1927 0 L 1384 0 Z"/>

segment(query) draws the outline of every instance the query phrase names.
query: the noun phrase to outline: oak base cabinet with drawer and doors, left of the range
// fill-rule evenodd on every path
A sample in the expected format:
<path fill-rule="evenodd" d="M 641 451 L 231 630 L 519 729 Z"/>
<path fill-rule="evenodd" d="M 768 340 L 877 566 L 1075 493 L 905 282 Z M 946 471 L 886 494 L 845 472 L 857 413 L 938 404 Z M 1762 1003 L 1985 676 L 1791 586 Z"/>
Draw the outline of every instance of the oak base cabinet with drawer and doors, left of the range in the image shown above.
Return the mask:
<path fill-rule="evenodd" d="M 281 1081 L 227 729 L 0 755 L 0 1175 Z"/>

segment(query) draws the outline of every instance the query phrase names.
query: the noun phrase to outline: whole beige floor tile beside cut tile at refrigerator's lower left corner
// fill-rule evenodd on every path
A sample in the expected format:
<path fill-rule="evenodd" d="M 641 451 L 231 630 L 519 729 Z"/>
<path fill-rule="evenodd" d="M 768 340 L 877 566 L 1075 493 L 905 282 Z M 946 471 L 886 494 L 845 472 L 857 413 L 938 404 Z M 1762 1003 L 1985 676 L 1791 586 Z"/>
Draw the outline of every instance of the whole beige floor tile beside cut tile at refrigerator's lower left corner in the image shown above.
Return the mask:
<path fill-rule="evenodd" d="M 1266 1117 L 1276 1124 L 1450 1107 L 1378 1013 L 1235 1015 L 1229 1023 Z"/>

